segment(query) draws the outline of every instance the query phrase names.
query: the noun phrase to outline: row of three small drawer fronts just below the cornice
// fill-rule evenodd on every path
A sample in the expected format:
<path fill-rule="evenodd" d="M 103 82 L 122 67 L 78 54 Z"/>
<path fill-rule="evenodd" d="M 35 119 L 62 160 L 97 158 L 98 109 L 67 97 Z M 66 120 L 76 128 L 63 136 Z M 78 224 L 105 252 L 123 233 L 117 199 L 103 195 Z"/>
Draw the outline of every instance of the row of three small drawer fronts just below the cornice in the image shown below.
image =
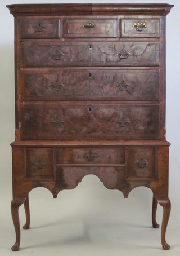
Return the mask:
<path fill-rule="evenodd" d="M 117 19 L 21 19 L 21 38 L 116 38 L 119 34 Z M 121 37 L 159 37 L 159 19 L 122 19 Z"/>

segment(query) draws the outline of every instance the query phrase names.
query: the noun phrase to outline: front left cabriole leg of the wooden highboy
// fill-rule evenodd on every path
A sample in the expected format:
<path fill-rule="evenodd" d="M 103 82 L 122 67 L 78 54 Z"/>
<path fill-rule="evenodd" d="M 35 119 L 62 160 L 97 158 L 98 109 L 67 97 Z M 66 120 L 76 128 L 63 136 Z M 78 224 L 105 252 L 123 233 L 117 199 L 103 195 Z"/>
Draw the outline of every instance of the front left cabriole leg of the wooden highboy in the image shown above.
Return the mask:
<path fill-rule="evenodd" d="M 20 246 L 20 223 L 19 223 L 19 206 L 24 202 L 24 198 L 13 199 L 11 201 L 11 214 L 13 225 L 15 226 L 16 242 L 11 247 L 12 251 L 18 251 Z"/>

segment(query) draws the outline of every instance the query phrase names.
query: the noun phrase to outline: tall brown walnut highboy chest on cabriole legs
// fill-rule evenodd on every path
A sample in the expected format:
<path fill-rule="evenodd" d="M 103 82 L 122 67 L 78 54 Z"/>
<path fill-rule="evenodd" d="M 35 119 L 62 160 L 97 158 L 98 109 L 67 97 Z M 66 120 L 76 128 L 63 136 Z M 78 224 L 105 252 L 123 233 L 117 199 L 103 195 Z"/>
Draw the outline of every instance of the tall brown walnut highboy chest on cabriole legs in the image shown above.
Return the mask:
<path fill-rule="evenodd" d="M 12 219 L 28 194 L 53 197 L 94 174 L 124 197 L 153 192 L 152 226 L 170 215 L 165 140 L 167 4 L 9 5 L 15 16 L 16 139 L 12 147 Z"/>

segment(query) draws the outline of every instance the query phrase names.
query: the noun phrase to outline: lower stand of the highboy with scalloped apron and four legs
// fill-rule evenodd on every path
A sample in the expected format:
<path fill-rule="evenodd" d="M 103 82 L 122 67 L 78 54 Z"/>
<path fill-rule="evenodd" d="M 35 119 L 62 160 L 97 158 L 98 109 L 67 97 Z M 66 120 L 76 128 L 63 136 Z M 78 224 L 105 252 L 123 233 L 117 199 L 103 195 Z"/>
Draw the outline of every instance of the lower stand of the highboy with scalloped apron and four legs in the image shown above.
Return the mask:
<path fill-rule="evenodd" d="M 13 200 L 11 213 L 16 241 L 20 246 L 19 206 L 24 204 L 29 229 L 28 194 L 33 188 L 47 188 L 57 197 L 64 189 L 78 186 L 84 176 L 96 175 L 108 189 L 122 191 L 128 197 L 132 189 L 145 186 L 153 193 L 152 226 L 158 228 L 156 210 L 163 207 L 161 243 L 170 246 L 165 233 L 170 215 L 168 198 L 169 143 L 164 141 L 107 141 L 107 142 L 14 142 L 12 143 Z M 79 143 L 82 143 L 79 145 Z"/>

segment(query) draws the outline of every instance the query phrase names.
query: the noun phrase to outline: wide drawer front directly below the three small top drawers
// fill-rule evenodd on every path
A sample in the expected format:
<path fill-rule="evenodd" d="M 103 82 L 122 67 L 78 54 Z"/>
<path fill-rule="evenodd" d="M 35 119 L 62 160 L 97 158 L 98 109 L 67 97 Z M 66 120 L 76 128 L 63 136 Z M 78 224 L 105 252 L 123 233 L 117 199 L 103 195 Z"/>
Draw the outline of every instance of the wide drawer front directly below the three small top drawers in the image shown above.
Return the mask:
<path fill-rule="evenodd" d="M 22 42 L 22 67 L 157 66 L 159 42 Z"/>

